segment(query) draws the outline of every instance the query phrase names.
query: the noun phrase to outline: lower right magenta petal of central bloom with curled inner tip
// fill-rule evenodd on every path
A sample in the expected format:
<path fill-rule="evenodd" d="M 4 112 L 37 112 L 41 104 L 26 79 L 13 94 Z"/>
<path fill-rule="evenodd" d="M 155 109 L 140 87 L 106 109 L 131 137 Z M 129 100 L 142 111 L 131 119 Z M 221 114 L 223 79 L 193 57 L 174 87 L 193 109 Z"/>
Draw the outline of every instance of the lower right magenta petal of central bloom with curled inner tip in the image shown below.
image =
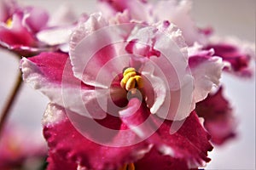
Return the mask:
<path fill-rule="evenodd" d="M 155 150 L 153 152 L 157 153 L 157 157 L 162 156 L 163 161 L 166 160 L 164 162 L 169 164 L 160 166 L 172 167 L 172 161 L 177 159 L 177 165 L 174 164 L 177 167 L 196 168 L 204 166 L 205 162 L 211 160 L 207 157 L 207 151 L 212 150 L 212 144 L 209 142 L 210 135 L 201 126 L 195 111 L 191 112 L 183 122 L 172 122 L 152 116 L 147 110 L 145 105 L 139 105 L 137 99 L 131 99 L 127 109 L 119 111 L 119 113 L 126 126 L 130 127 L 139 137 L 150 136 L 146 141 L 149 144 L 154 144 L 155 149 L 160 153 Z M 133 114 L 131 115 L 131 113 Z M 183 124 L 176 133 L 171 134 L 172 125 L 175 126 L 176 123 Z M 150 159 L 150 153 L 148 156 L 146 155 L 145 161 Z M 150 162 L 147 163 L 150 166 Z"/>

